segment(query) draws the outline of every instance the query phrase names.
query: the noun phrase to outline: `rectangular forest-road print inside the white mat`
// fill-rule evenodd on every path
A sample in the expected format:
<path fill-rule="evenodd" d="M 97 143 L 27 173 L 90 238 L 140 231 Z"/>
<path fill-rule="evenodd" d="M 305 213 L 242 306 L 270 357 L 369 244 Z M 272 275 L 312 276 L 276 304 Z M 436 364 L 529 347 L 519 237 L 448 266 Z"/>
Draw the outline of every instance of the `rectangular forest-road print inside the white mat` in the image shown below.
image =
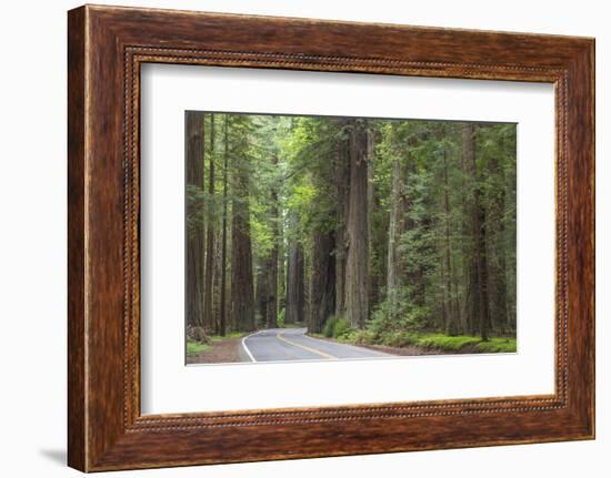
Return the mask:
<path fill-rule="evenodd" d="M 187 364 L 517 352 L 514 123 L 184 131 Z"/>

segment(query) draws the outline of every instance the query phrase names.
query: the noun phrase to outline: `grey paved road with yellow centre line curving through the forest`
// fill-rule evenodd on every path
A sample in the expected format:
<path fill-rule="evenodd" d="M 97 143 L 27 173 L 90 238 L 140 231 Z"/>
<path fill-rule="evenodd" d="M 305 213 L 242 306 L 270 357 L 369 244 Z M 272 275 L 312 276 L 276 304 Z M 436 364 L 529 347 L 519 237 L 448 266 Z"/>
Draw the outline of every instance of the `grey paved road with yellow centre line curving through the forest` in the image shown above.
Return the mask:
<path fill-rule="evenodd" d="M 306 335 L 306 328 L 270 328 L 242 339 L 252 362 L 333 360 L 341 358 L 390 357 L 389 354 L 338 344 Z"/>

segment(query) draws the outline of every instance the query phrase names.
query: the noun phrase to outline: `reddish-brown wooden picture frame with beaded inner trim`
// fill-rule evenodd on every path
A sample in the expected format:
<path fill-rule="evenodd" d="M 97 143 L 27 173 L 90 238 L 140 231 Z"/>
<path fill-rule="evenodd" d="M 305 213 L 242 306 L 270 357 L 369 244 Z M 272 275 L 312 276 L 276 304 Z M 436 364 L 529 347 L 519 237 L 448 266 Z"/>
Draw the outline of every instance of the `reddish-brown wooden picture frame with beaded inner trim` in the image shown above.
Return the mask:
<path fill-rule="evenodd" d="M 70 466 L 98 471 L 593 438 L 593 39 L 91 6 L 68 19 Z M 553 83 L 555 393 L 141 416 L 143 62 Z"/>

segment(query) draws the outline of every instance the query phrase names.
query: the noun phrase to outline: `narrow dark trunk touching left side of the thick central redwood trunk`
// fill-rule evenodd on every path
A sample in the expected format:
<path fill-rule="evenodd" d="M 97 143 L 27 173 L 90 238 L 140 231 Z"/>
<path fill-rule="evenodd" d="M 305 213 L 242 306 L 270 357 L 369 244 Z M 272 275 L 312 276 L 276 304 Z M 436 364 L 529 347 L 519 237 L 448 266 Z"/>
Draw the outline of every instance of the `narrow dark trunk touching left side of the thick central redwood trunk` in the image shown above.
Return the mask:
<path fill-rule="evenodd" d="M 345 262 L 348 257 L 348 211 L 350 194 L 350 138 L 347 130 L 349 121 L 337 121 L 338 153 L 334 163 L 334 182 L 337 195 L 335 227 L 335 317 L 345 315 Z"/>

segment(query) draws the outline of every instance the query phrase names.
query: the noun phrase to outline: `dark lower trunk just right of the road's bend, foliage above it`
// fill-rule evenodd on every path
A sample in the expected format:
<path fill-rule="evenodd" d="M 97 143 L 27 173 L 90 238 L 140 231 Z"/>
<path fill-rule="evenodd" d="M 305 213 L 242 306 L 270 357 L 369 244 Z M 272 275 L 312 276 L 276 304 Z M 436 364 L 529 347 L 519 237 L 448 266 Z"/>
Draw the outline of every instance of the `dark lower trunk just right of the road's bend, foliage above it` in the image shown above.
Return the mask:
<path fill-rule="evenodd" d="M 322 332 L 324 322 L 335 308 L 334 238 L 331 232 L 314 231 L 312 235 L 312 265 L 308 330 Z"/>

